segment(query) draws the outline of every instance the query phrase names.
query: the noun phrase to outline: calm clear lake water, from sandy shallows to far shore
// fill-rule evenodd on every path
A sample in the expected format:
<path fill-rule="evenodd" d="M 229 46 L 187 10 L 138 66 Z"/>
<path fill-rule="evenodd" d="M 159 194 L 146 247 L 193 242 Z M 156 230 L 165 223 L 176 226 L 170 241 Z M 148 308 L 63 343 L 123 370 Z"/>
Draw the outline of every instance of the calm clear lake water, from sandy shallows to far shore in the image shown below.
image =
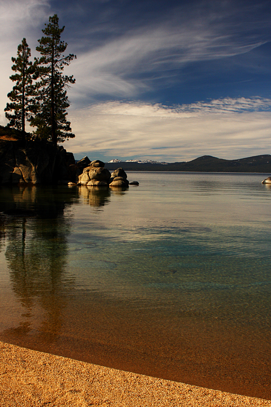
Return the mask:
<path fill-rule="evenodd" d="M 271 399 L 269 174 L 0 189 L 0 340 Z"/>

